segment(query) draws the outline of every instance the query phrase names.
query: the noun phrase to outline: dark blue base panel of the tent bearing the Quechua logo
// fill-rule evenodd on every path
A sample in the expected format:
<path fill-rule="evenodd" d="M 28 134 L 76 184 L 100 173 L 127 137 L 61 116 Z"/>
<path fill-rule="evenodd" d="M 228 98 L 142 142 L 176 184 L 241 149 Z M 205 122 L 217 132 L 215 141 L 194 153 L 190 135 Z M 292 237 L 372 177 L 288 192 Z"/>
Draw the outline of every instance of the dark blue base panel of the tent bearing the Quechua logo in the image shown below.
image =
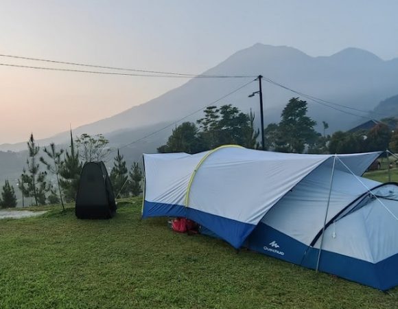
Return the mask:
<path fill-rule="evenodd" d="M 262 222 L 250 234 L 246 245 L 250 250 L 316 269 L 319 249 L 308 247 Z M 323 250 L 320 253 L 319 271 L 379 290 L 388 290 L 398 285 L 397 266 L 398 254 L 373 264 Z"/>

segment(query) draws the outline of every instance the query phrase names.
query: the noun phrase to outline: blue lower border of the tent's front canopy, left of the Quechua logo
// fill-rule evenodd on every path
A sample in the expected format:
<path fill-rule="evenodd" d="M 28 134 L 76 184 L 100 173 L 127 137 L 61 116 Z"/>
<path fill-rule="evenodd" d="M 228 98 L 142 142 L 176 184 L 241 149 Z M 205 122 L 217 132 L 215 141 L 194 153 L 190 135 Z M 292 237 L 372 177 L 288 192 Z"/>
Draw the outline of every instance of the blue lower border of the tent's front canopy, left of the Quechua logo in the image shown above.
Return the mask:
<path fill-rule="evenodd" d="M 236 249 L 242 247 L 244 240 L 248 238 L 256 227 L 249 223 L 207 214 L 204 211 L 181 205 L 145 201 L 142 217 L 149 218 L 157 216 L 184 217 L 194 220 L 199 225 L 204 225 L 204 227 L 211 227 L 213 233 L 226 240 L 226 242 L 229 242 Z"/>

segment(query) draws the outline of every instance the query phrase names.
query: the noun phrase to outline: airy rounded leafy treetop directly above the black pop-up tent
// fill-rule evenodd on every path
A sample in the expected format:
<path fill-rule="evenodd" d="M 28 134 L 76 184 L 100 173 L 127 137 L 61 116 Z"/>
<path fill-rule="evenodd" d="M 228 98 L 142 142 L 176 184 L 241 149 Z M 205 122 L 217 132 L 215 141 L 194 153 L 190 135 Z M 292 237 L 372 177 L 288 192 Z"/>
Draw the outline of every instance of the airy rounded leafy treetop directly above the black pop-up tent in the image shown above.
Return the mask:
<path fill-rule="evenodd" d="M 89 134 L 82 134 L 76 139 L 76 145 L 80 151 L 80 158 L 84 162 L 106 161 L 110 149 L 106 146 L 109 141 L 102 134 L 92 137 Z"/>

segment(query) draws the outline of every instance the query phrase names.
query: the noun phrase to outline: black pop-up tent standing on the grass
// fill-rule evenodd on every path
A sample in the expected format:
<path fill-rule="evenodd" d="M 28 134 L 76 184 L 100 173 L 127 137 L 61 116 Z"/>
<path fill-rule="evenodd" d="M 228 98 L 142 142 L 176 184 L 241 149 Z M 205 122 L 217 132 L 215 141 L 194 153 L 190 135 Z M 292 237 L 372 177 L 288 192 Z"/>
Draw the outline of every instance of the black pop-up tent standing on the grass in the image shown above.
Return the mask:
<path fill-rule="evenodd" d="M 108 219 L 115 213 L 115 195 L 104 162 L 85 163 L 76 196 L 76 216 L 80 219 Z"/>

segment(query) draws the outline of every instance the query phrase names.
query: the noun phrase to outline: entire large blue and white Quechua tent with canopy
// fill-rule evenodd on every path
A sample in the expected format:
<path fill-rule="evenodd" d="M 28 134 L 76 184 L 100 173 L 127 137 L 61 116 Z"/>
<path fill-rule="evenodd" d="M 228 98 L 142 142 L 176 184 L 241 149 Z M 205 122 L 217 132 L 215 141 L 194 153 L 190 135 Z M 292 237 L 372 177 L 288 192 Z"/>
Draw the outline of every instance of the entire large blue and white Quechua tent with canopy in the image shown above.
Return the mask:
<path fill-rule="evenodd" d="M 398 184 L 361 177 L 379 155 L 144 155 L 143 218 L 186 217 L 235 248 L 387 290 L 398 285 Z"/>

